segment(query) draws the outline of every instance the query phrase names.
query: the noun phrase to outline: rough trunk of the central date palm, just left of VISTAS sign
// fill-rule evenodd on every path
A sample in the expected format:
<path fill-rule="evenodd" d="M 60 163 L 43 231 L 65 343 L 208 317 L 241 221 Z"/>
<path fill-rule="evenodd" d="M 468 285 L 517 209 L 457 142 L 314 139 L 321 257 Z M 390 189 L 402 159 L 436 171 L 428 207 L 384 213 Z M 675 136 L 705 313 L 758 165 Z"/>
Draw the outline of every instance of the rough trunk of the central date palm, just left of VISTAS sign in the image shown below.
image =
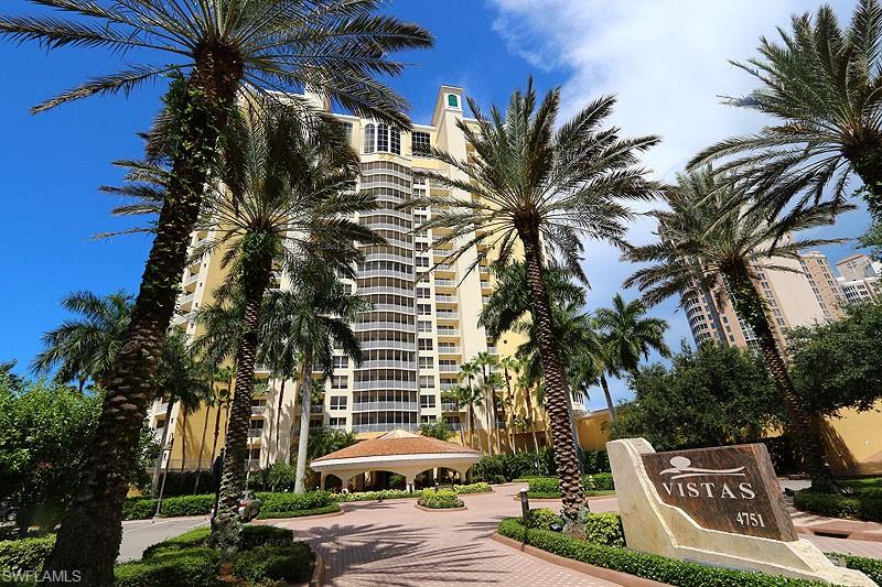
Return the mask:
<path fill-rule="evenodd" d="M 574 450 L 574 439 L 570 427 L 568 402 L 570 392 L 567 378 L 560 362 L 558 341 L 551 324 L 551 305 L 545 284 L 545 270 L 541 261 L 539 235 L 536 231 L 519 230 L 524 243 L 524 257 L 527 264 L 527 281 L 533 294 L 533 319 L 539 341 L 539 356 L 546 384 L 546 410 L 553 428 L 555 463 L 560 478 L 560 493 L 563 515 L 567 518 L 564 530 L 578 535 L 582 531 L 576 522 L 580 507 L 588 508 L 582 493 L 582 480 L 579 477 L 579 458 Z"/>

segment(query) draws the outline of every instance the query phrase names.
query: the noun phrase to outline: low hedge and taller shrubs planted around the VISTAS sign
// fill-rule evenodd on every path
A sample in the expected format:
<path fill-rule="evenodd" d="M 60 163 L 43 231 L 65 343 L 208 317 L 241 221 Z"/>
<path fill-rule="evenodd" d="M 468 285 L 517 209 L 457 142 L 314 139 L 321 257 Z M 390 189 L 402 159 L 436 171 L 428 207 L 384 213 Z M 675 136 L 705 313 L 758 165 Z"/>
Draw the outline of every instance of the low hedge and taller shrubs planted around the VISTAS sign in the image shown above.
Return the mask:
<path fill-rule="evenodd" d="M 809 587 L 828 586 L 824 581 L 794 579 L 781 576 L 749 573 L 722 567 L 687 563 L 664 556 L 639 553 L 622 547 L 624 534 L 621 522 L 614 523 L 614 513 L 590 514 L 588 520 L 588 540 L 571 539 L 548 530 L 551 522 L 560 523 L 553 512 L 538 510 L 530 513 L 530 528 L 525 531 L 518 518 L 507 518 L 499 522 L 498 533 L 503 536 L 526 541 L 534 547 L 553 553 L 566 558 L 588 563 L 590 565 L 627 573 L 669 585 L 692 587 L 696 585 L 713 585 L 716 587 Z M 546 513 L 547 512 L 547 513 Z M 551 515 L 548 515 L 551 513 Z M 537 522 L 534 523 L 534 515 Z M 594 523 L 592 519 L 604 517 Z M 552 517 L 556 519 L 552 519 Z M 620 540 L 622 541 L 620 543 Z M 876 583 L 882 581 L 882 562 L 860 556 L 845 556 L 848 568 L 861 570 Z M 882 585 L 882 583 L 880 583 Z"/>

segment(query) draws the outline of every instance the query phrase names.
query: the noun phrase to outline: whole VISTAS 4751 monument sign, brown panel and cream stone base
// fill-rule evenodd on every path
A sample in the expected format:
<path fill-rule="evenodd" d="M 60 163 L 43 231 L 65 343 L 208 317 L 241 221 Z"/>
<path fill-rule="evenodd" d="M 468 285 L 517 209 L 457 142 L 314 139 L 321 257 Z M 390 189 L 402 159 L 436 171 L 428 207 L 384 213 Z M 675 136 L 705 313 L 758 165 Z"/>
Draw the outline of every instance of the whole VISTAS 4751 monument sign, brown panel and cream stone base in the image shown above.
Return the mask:
<path fill-rule="evenodd" d="M 800 540 L 764 445 L 656 453 L 606 443 L 628 548 L 833 585 L 872 587 Z"/>

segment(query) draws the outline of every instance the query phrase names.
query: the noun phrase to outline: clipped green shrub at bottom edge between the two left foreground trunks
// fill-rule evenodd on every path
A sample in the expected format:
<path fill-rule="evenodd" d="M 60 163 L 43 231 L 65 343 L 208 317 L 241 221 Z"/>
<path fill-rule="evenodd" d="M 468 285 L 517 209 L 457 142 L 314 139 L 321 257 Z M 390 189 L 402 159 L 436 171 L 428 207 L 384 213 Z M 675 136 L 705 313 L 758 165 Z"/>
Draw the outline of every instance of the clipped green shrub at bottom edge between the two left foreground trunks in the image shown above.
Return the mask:
<path fill-rule="evenodd" d="M 217 587 L 220 555 L 211 548 L 154 553 L 150 558 L 114 568 L 116 587 Z"/>

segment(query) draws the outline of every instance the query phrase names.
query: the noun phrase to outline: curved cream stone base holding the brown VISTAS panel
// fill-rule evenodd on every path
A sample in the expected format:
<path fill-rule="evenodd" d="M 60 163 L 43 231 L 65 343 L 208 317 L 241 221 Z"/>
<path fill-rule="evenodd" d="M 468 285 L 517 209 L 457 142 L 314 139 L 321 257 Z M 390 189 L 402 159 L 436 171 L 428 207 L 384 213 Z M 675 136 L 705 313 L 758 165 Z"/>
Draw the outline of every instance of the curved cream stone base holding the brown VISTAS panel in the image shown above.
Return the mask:
<path fill-rule="evenodd" d="M 875 586 L 863 573 L 835 566 L 806 540 L 784 542 L 701 528 L 684 510 L 662 500 L 641 456 L 655 453 L 645 439 L 613 441 L 606 450 L 630 548 L 836 585 Z"/>

